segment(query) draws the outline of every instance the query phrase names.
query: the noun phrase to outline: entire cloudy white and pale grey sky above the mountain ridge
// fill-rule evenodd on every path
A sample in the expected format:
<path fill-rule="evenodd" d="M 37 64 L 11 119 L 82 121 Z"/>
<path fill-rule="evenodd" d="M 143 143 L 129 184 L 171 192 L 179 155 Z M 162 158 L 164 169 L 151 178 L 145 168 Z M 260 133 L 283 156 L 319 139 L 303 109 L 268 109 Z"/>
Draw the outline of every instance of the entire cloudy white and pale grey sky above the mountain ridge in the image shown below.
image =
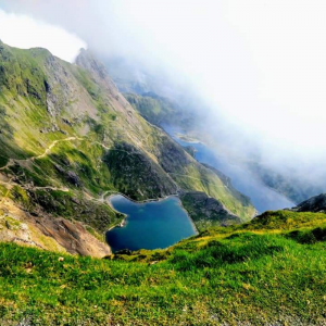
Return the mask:
<path fill-rule="evenodd" d="M 271 164 L 323 172 L 324 0 L 0 0 L 0 9 L 4 42 L 68 61 L 83 46 L 159 66 L 210 108 L 210 133 L 223 124 Z"/>

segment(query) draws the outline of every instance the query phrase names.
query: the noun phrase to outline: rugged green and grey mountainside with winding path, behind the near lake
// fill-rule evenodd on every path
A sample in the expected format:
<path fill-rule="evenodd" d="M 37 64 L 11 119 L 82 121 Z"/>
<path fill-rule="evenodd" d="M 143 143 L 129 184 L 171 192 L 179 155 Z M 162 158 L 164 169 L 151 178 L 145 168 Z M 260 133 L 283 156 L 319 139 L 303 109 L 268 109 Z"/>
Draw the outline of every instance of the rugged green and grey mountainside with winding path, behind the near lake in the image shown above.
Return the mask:
<path fill-rule="evenodd" d="M 0 43 L 0 240 L 109 254 L 102 234 L 123 216 L 105 198 L 117 192 L 146 200 L 200 191 L 241 222 L 255 213 L 141 117 L 89 51 L 70 64 Z"/>

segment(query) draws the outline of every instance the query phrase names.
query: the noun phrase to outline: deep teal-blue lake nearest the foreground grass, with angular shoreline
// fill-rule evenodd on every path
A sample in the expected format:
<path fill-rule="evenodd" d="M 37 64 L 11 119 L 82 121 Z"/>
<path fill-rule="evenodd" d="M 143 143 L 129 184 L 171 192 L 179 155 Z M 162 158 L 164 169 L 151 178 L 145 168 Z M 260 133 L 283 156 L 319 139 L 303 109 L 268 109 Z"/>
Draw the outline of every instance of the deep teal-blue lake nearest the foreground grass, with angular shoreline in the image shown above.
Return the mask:
<path fill-rule="evenodd" d="M 177 197 L 137 203 L 116 195 L 110 197 L 110 203 L 114 210 L 127 215 L 123 227 L 114 227 L 105 234 L 113 252 L 163 249 L 196 235 L 192 222 Z"/>

